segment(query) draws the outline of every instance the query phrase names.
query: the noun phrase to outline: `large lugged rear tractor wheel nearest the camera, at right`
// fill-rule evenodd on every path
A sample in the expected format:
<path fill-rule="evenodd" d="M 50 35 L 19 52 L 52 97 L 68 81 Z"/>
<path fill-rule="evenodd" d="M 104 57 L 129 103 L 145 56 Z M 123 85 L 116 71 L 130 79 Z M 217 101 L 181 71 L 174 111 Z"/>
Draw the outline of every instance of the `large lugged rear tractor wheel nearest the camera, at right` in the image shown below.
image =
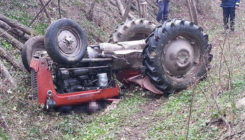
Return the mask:
<path fill-rule="evenodd" d="M 167 21 L 146 40 L 143 65 L 152 83 L 165 94 L 206 78 L 212 55 L 208 35 L 185 20 Z"/>

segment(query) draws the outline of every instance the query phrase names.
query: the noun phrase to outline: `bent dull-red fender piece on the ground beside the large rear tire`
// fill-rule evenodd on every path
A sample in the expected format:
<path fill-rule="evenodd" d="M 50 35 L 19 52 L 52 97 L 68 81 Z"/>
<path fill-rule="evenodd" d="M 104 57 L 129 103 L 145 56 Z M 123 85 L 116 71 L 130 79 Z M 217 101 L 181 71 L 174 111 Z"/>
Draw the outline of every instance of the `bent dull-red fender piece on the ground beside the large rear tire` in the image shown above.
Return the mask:
<path fill-rule="evenodd" d="M 127 79 L 128 81 L 131 81 L 131 82 L 134 82 L 138 85 L 140 85 L 142 88 L 145 88 L 153 93 L 156 93 L 156 94 L 163 94 L 162 91 L 160 91 L 159 89 L 156 88 L 156 86 L 154 86 L 149 77 L 146 76 L 144 77 L 143 75 L 139 74 L 139 75 L 136 75 L 134 77 L 130 77 Z"/>

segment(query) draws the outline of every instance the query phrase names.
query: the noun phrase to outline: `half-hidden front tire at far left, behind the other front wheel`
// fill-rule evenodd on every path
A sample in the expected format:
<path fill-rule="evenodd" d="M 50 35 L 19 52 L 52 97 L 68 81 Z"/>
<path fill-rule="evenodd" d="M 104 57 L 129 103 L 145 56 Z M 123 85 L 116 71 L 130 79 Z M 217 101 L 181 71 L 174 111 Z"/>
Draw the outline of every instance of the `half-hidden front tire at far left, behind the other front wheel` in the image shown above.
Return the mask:
<path fill-rule="evenodd" d="M 36 36 L 26 41 L 21 52 L 22 63 L 27 71 L 30 72 L 30 64 L 37 51 L 46 51 L 44 48 L 44 37 Z"/>

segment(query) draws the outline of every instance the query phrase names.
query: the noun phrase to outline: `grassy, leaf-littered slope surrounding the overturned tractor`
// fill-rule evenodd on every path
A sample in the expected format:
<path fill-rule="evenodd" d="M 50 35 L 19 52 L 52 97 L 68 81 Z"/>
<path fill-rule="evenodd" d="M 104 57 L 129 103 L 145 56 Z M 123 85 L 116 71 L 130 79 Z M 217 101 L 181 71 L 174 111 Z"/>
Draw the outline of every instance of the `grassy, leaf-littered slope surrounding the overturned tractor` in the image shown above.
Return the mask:
<path fill-rule="evenodd" d="M 237 11 L 235 32 L 223 34 L 220 0 L 212 1 L 212 6 L 208 4 L 210 1 L 201 2 L 204 12 L 198 15 L 199 24 L 213 45 L 214 58 L 206 80 L 169 97 L 141 89 L 124 91 L 125 97 L 115 109 L 92 115 L 60 114 L 45 112 L 42 107 L 28 100 L 29 73 L 20 72 L 4 62 L 10 74 L 17 79 L 18 87 L 0 94 L 0 139 L 182 140 L 187 138 L 187 133 L 188 139 L 244 139 L 245 118 L 241 117 L 244 110 L 235 108 L 235 102 L 245 97 L 244 5 Z M 84 9 L 90 2 L 64 0 L 61 3 L 62 16 L 81 24 L 89 44 L 107 41 L 110 32 L 121 22 L 114 18 L 120 17 L 113 12 L 117 10 L 115 7 L 106 5 L 103 0 L 97 2 L 94 21 L 85 18 Z M 171 6 L 170 18 L 188 19 L 183 0 L 173 0 Z M 0 2 L 0 11 L 4 15 L 25 25 L 30 23 L 39 8 L 38 0 Z M 48 8 L 52 17 L 57 18 L 57 1 L 54 0 Z M 149 19 L 154 21 L 152 17 Z M 32 28 L 38 34 L 44 34 L 48 25 L 43 14 Z M 1 40 L 0 46 L 20 60 L 19 52 L 11 44 Z"/>

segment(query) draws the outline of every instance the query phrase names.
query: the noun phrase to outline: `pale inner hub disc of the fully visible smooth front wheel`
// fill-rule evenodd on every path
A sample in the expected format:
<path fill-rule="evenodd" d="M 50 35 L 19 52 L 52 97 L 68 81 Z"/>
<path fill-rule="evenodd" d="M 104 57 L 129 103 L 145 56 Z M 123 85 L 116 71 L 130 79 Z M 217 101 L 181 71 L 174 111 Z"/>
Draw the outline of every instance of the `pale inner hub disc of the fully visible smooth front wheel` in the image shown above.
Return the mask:
<path fill-rule="evenodd" d="M 63 30 L 58 35 L 60 50 L 65 54 L 72 54 L 77 50 L 76 36 L 69 30 Z"/>

